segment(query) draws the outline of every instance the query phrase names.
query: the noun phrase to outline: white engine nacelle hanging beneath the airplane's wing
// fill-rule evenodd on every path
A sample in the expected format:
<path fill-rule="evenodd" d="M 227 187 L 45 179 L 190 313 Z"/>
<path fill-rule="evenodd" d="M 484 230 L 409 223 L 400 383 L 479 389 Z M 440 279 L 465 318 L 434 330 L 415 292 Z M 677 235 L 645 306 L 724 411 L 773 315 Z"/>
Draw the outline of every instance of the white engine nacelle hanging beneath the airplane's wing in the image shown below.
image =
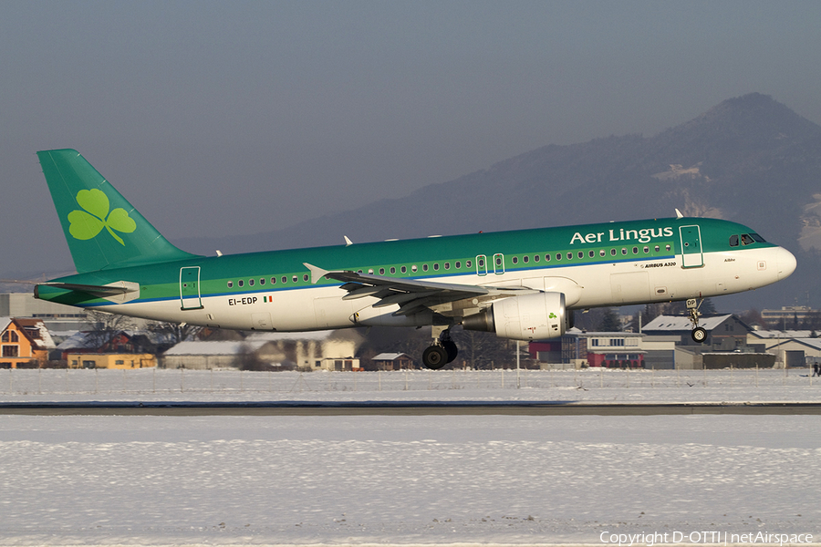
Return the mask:
<path fill-rule="evenodd" d="M 489 308 L 462 318 L 462 327 L 496 333 L 514 340 L 542 340 L 565 334 L 565 295 L 525 294 L 494 302 Z"/>

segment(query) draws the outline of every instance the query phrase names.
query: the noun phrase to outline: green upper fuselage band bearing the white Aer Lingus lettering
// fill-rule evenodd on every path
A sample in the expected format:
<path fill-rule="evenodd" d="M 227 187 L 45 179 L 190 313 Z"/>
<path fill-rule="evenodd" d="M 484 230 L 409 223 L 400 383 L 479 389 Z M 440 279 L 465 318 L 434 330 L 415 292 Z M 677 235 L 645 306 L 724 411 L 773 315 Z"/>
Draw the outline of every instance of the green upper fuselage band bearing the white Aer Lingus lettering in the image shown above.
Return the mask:
<path fill-rule="evenodd" d="M 197 257 L 167 263 L 110 269 L 71 275 L 54 281 L 75 284 L 109 284 L 130 281 L 140 284 L 139 298 L 131 302 L 150 302 L 180 298 L 180 270 L 199 266 L 202 297 L 222 294 L 249 294 L 293 290 L 310 286 L 338 285 L 323 279 L 310 283 L 303 263 L 328 271 L 361 270 L 397 278 L 436 278 L 476 274 L 478 256 L 484 256 L 487 276 L 475 283 L 494 281 L 494 255 L 504 256 L 506 272 L 626 261 L 659 260 L 681 253 L 679 228 L 698 225 L 702 253 L 738 250 L 730 246 L 731 235 L 753 232 L 742 224 L 715 219 L 660 219 L 655 221 L 608 222 L 558 228 L 541 228 L 512 232 L 474 233 L 468 235 L 422 238 L 379 243 L 355 243 L 349 246 L 314 247 L 266 253 L 247 253 L 221 257 Z M 774 247 L 771 243 L 753 243 L 746 248 Z M 657 249 L 658 247 L 658 249 Z M 604 256 L 602 256 L 604 252 Z M 615 252 L 615 254 L 613 254 Z M 556 260 L 556 254 L 562 260 Z M 567 258 L 568 253 L 571 255 Z M 579 257 L 581 253 L 581 257 Z M 593 256 L 590 256 L 593 253 Z M 545 255 L 551 260 L 546 261 Z M 535 262 L 535 256 L 539 261 Z M 525 263 L 525 257 L 527 262 Z M 515 258 L 515 263 L 514 263 Z M 445 269 L 445 263 L 449 268 Z M 460 267 L 456 267 L 456 263 Z M 470 266 L 467 264 L 470 263 Z M 428 270 L 424 271 L 427 264 Z M 434 264 L 439 269 L 434 270 Z M 405 272 L 401 271 L 405 267 Z M 416 266 L 416 271 L 413 271 Z M 395 268 L 395 273 L 390 268 Z M 296 276 L 296 282 L 294 278 Z M 271 278 L 276 279 L 271 284 Z M 282 283 L 286 277 L 286 283 Z M 255 284 L 251 285 L 250 280 Z M 260 284 L 264 279 L 265 284 Z M 239 286 L 239 282 L 243 286 Z M 229 287 L 229 282 L 232 286 Z M 60 304 L 100 305 L 108 301 L 87 294 L 41 285 L 40 298 Z"/>

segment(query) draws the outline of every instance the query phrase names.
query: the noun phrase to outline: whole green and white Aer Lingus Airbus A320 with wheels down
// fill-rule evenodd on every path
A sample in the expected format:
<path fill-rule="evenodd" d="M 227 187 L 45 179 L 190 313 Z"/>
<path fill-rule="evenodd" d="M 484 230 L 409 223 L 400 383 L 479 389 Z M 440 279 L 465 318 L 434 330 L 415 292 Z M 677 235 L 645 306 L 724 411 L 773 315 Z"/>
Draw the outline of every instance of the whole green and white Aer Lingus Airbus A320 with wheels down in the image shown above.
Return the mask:
<path fill-rule="evenodd" d="M 701 298 L 784 279 L 795 256 L 735 222 L 677 218 L 199 256 L 174 247 L 77 150 L 37 152 L 77 274 L 38 284 L 59 304 L 261 331 L 432 325 L 422 355 L 457 355 L 450 331 L 537 340 L 568 312 Z M 677 212 L 678 213 L 678 212 Z M 219 254 L 219 253 L 218 253 Z"/>

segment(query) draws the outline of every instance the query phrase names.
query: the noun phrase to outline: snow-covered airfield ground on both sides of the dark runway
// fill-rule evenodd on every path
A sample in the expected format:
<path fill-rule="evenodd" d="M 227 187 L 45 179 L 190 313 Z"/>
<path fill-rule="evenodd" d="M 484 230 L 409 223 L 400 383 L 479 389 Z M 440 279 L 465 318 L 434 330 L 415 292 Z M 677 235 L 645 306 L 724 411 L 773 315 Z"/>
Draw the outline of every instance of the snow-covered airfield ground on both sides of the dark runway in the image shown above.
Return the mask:
<path fill-rule="evenodd" d="M 782 370 L 528 371 L 519 386 L 515 371 L 503 380 L 499 371 L 31 370 L 0 373 L 0 400 L 817 401 L 821 393 L 817 378 Z M 0 415 L 0 454 L 0 545 L 821 539 L 818 416 Z"/>

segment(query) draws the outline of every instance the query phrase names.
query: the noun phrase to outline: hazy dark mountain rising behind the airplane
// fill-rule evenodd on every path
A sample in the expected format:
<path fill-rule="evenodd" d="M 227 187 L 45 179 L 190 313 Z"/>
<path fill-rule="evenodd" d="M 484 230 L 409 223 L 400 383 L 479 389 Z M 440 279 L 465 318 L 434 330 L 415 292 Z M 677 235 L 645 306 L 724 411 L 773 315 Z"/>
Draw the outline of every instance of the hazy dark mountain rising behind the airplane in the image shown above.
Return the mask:
<path fill-rule="evenodd" d="M 733 309 L 821 307 L 821 126 L 773 98 L 730 98 L 645 138 L 549 145 L 410 195 L 276 232 L 176 242 L 213 254 L 685 215 L 742 222 L 798 257 L 787 282 Z M 721 302 L 717 304 L 722 307 Z"/>

